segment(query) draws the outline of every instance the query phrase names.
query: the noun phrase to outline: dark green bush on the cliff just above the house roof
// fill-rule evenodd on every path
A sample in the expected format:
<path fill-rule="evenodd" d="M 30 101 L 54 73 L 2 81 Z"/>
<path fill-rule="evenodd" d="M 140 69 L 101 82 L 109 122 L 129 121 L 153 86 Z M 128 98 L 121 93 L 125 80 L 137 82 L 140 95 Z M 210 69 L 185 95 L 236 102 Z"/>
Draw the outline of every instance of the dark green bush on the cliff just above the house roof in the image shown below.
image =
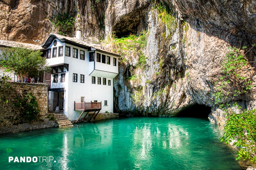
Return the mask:
<path fill-rule="evenodd" d="M 75 23 L 74 17 L 69 16 L 67 13 L 59 13 L 53 17 L 50 17 L 49 20 L 54 26 L 54 29 L 58 31 L 58 34 L 63 36 L 71 35 Z"/>

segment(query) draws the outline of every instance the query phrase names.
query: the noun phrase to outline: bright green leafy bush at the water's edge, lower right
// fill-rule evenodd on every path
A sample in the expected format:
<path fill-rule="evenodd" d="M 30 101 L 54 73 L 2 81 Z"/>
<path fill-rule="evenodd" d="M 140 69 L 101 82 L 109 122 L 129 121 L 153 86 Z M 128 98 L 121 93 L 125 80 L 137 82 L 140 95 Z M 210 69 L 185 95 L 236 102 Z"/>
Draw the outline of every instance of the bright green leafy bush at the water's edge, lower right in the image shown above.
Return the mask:
<path fill-rule="evenodd" d="M 256 110 L 229 114 L 224 131 L 221 142 L 233 142 L 239 148 L 236 160 L 244 158 L 256 163 Z"/>

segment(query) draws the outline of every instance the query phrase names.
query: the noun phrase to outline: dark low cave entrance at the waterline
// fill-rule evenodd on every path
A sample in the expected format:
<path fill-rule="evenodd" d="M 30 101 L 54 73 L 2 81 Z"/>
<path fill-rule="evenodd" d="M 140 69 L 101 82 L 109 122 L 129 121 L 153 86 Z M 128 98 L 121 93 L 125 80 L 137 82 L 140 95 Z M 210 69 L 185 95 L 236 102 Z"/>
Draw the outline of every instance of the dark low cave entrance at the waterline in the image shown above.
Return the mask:
<path fill-rule="evenodd" d="M 196 103 L 180 111 L 177 117 L 208 118 L 209 113 L 211 113 L 211 107 Z"/>

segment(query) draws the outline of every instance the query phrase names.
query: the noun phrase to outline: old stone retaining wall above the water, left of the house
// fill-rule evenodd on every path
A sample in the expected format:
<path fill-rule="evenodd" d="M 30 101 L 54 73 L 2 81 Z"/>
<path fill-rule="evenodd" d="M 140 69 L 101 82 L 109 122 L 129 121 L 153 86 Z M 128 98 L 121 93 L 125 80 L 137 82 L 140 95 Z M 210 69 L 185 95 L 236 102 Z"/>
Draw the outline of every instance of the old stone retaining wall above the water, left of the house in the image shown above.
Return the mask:
<path fill-rule="evenodd" d="M 4 97 L 8 100 L 0 107 L 0 133 L 19 132 L 55 127 L 54 116 L 47 113 L 47 86 L 38 83 L 17 83 L 11 82 L 10 88 L 4 91 Z M 38 120 L 28 122 L 14 103 L 17 98 L 24 97 L 26 93 L 33 93 L 36 96 L 40 110 Z M 52 119 L 52 120 L 49 120 Z"/>

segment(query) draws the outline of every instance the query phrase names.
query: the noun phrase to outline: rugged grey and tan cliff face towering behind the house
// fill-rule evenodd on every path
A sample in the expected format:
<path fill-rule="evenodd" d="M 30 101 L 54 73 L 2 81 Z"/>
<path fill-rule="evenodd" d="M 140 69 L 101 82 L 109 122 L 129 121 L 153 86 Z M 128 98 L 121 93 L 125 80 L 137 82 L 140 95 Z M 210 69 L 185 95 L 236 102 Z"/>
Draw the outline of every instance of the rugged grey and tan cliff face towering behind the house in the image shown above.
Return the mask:
<path fill-rule="evenodd" d="M 176 18 L 175 29 L 162 20 L 160 6 Z M 107 38 L 113 31 L 121 37 L 146 30 L 145 67 L 136 67 L 139 57 L 132 52 L 119 63 L 115 108 L 123 113 L 175 116 L 198 103 L 212 108 L 210 121 L 223 124 L 225 115 L 214 104 L 213 94 L 227 47 L 239 49 L 256 42 L 254 0 L 6 0 L 0 1 L 0 9 L 1 39 L 43 42 L 54 31 L 47 18 L 57 13 L 75 17 L 72 35 L 81 30 L 83 39 L 91 42 Z M 113 47 L 106 45 L 105 49 Z M 252 67 L 255 53 L 253 48 L 246 54 Z M 137 79 L 127 79 L 131 75 Z M 255 70 L 251 75 L 255 84 Z M 223 102 L 238 101 L 243 108 L 255 108 L 255 90 Z"/>

